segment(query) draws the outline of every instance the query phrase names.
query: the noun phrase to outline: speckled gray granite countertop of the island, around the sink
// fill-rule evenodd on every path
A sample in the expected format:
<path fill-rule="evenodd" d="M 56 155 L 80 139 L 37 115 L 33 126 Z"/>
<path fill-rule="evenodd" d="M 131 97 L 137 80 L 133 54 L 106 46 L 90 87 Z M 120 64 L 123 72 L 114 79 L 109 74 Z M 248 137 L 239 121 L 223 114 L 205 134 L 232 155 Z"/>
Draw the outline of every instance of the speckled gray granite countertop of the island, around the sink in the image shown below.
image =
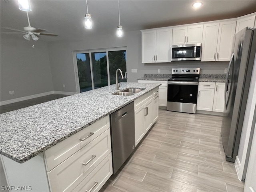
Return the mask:
<path fill-rule="evenodd" d="M 115 84 L 0 115 L 0 154 L 26 162 L 160 84 L 122 82 L 119 90 L 145 88 L 132 96 L 112 95 Z"/>

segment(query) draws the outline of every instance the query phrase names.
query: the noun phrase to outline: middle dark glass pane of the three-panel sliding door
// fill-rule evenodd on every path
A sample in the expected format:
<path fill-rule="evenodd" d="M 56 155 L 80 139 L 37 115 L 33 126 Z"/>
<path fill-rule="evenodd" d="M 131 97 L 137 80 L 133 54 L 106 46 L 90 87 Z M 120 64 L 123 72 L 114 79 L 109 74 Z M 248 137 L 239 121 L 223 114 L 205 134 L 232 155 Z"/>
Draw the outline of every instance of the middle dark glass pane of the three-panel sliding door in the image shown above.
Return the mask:
<path fill-rule="evenodd" d="M 92 53 L 92 71 L 94 78 L 94 89 L 108 85 L 106 52 Z"/>

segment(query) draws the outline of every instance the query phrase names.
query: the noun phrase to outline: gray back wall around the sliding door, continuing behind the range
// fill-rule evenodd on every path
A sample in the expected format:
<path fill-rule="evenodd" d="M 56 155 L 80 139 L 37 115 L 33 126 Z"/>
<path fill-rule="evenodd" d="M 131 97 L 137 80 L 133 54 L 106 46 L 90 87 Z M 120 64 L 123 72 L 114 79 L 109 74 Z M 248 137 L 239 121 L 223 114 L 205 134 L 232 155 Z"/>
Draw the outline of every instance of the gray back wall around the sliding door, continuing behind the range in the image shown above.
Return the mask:
<path fill-rule="evenodd" d="M 158 73 L 159 68 L 162 74 L 170 74 L 172 68 L 182 67 L 199 67 L 201 74 L 224 74 L 224 69 L 228 67 L 228 62 L 184 61 L 144 64 L 141 63 L 141 32 L 126 32 L 122 38 L 117 38 L 113 32 L 113 34 L 95 36 L 79 42 L 50 43 L 48 48 L 54 90 L 76 92 L 72 51 L 124 46 L 127 47 L 128 82 L 137 82 L 137 78 L 142 77 L 144 73 Z M 132 73 L 131 69 L 138 69 L 138 72 Z"/>

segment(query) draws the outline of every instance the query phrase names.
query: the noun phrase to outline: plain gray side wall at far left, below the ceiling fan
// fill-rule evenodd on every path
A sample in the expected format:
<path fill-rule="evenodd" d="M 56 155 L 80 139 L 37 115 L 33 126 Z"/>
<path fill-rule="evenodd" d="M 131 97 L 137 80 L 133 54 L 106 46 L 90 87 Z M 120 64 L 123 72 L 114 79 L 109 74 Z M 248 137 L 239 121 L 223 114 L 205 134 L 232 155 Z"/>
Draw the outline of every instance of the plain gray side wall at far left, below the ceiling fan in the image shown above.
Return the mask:
<path fill-rule="evenodd" d="M 10 90 L 15 94 L 10 95 Z M 0 100 L 49 91 L 53 91 L 53 85 L 47 43 L 1 36 Z"/>

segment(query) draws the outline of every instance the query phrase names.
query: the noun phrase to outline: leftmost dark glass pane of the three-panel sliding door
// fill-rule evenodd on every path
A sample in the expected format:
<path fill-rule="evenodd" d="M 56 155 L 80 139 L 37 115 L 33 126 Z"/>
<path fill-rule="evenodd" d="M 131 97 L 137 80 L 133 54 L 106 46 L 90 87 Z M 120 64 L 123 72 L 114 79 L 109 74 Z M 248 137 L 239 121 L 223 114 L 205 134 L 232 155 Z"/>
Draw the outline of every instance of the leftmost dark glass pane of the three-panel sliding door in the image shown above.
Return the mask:
<path fill-rule="evenodd" d="M 76 54 L 80 92 L 92 90 L 89 53 Z"/>

